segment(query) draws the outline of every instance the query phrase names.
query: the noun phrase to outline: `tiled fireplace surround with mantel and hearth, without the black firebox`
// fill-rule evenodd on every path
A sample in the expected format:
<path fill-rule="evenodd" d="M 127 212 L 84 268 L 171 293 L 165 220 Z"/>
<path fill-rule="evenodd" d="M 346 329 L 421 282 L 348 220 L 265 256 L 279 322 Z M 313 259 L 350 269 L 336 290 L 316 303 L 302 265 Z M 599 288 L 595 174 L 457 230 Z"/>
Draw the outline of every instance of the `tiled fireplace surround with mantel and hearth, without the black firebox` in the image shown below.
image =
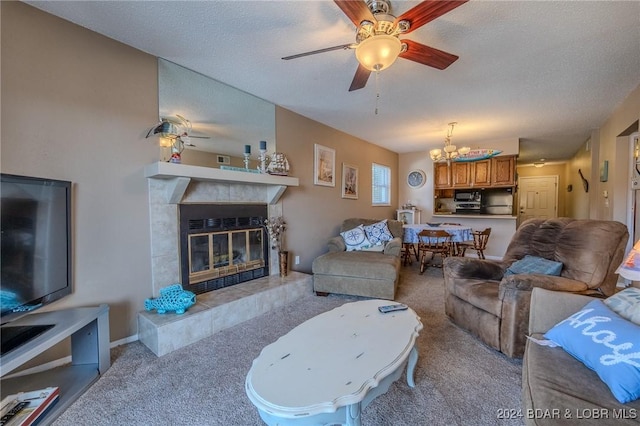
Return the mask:
<path fill-rule="evenodd" d="M 147 166 L 145 177 L 149 178 L 154 297 L 161 288 L 180 282 L 179 203 L 262 203 L 269 216 L 280 216 L 282 194 L 287 187 L 298 186 L 292 177 L 162 162 Z M 290 272 L 281 278 L 277 253 L 272 250 L 269 258 L 270 276 L 199 294 L 185 314 L 140 312 L 140 341 L 156 355 L 165 355 L 312 291 L 310 275 Z"/>

